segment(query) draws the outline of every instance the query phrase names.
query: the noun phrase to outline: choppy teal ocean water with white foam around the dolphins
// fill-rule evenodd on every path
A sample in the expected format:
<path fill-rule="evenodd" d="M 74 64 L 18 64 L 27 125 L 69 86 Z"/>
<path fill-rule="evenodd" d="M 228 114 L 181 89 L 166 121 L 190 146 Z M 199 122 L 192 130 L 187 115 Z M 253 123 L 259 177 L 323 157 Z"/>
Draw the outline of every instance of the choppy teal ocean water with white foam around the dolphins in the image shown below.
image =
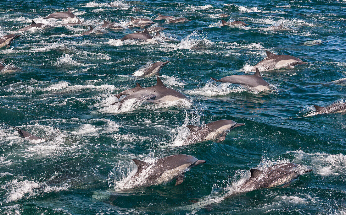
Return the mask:
<path fill-rule="evenodd" d="M 85 25 L 43 19 L 68 7 Z M 162 36 L 170 40 L 119 40 L 139 29 L 79 36 L 103 19 L 125 27 L 130 16 L 157 13 L 191 21 L 165 25 Z M 249 26 L 217 27 L 221 19 Z M 9 65 L 0 72 L 0 214 L 346 213 L 346 117 L 315 115 L 312 107 L 345 99 L 345 1 L 1 2 L 0 36 L 31 20 L 51 27 L 20 33 L 0 50 Z M 270 30 L 281 23 L 289 30 Z M 262 72 L 270 91 L 210 79 L 252 74 L 265 50 L 308 65 Z M 161 79 L 191 101 L 110 106 L 136 82 L 156 84 L 155 77 L 130 74 L 167 60 Z M 183 144 L 186 125 L 219 119 L 245 126 L 223 142 Z M 6 124 L 45 141 L 22 139 Z M 179 186 L 125 183 L 135 171 L 132 159 L 180 153 L 207 163 Z M 285 162 L 313 171 L 284 188 L 234 194 L 250 168 Z"/>

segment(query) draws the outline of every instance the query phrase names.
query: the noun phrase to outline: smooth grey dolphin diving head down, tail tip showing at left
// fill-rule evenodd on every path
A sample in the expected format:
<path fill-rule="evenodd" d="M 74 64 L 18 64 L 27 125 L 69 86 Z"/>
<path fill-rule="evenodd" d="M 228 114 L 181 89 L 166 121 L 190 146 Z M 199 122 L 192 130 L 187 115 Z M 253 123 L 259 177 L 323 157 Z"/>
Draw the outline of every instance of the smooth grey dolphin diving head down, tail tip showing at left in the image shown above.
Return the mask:
<path fill-rule="evenodd" d="M 262 78 L 261 73 L 257 68 L 256 68 L 256 73 L 254 75 L 230 75 L 230 76 L 221 78 L 220 80 L 215 78 L 211 78 L 211 79 L 217 82 L 228 82 L 232 84 L 239 84 L 250 91 L 252 90 L 263 91 L 268 89 L 268 85 L 269 85 L 269 83 Z"/>

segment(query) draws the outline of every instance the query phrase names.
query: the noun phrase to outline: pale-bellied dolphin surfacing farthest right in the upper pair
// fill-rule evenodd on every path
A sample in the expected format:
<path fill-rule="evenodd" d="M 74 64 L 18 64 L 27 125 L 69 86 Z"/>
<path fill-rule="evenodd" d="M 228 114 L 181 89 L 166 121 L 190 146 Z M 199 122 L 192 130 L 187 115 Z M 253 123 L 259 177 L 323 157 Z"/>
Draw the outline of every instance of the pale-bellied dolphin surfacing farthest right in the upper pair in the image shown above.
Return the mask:
<path fill-rule="evenodd" d="M 270 51 L 265 51 L 267 57 L 258 62 L 253 68 L 259 68 L 262 71 L 281 69 L 281 68 L 293 68 L 295 65 L 308 64 L 301 59 L 293 57 L 291 55 L 275 55 Z"/>

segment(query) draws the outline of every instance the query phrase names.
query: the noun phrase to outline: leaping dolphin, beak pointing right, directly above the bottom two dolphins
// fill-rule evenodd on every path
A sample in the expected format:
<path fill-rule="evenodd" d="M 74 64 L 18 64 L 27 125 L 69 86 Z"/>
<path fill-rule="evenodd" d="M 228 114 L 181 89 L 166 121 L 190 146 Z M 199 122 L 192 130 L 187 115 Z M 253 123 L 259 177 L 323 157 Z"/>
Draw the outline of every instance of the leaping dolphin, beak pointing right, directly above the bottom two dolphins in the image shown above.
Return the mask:
<path fill-rule="evenodd" d="M 190 135 L 186 138 L 185 143 L 192 144 L 206 140 L 224 141 L 231 130 L 242 125 L 245 124 L 227 119 L 217 120 L 202 127 L 187 125 L 186 127 L 190 129 Z"/>

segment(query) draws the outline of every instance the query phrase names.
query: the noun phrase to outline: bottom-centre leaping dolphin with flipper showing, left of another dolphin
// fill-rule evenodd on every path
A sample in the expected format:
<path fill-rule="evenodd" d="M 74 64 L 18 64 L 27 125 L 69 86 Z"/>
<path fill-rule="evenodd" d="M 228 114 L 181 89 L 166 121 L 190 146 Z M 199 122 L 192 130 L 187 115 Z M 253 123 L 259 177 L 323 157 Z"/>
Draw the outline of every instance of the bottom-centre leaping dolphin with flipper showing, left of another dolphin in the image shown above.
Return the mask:
<path fill-rule="evenodd" d="M 146 177 L 146 183 L 143 186 L 148 187 L 158 184 L 166 184 L 175 180 L 175 186 L 184 181 L 185 173 L 192 167 L 206 163 L 205 160 L 199 160 L 191 155 L 171 155 L 156 160 L 153 164 L 134 159 L 137 166 L 136 174 L 131 178 L 138 180 L 140 177 Z M 144 176 L 145 175 L 145 176 Z"/>

